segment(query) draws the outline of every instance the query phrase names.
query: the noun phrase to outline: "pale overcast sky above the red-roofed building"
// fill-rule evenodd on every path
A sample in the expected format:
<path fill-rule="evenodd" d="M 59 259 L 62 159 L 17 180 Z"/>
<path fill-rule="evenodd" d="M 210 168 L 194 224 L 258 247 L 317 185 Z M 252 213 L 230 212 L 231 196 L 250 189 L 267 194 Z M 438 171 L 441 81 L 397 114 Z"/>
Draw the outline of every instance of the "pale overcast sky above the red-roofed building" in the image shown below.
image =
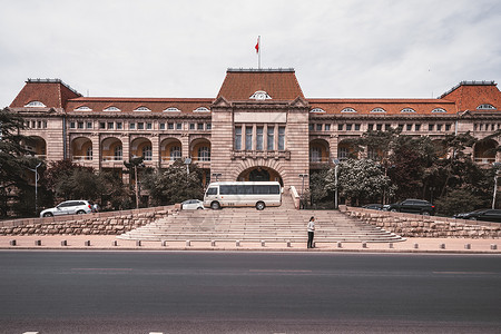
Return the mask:
<path fill-rule="evenodd" d="M 501 82 L 500 0 L 0 0 L 0 107 L 27 78 L 92 97 L 217 95 L 288 68 L 307 98 L 430 98 Z"/>

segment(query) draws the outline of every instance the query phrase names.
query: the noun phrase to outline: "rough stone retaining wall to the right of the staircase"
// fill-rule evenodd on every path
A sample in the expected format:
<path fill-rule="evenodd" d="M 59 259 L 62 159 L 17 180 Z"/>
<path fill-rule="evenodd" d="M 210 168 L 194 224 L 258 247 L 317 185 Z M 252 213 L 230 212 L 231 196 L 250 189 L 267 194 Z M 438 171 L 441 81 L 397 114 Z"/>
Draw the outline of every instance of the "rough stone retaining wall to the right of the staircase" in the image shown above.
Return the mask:
<path fill-rule="evenodd" d="M 501 224 L 340 206 L 346 215 L 403 237 L 500 238 Z"/>

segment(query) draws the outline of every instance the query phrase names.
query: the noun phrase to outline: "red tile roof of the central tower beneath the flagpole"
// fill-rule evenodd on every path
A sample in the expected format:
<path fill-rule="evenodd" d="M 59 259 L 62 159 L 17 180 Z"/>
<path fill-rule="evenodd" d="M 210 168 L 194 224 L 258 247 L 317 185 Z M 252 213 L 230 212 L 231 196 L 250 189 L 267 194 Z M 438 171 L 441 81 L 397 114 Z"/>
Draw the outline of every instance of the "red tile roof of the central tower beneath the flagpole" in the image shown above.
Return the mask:
<path fill-rule="evenodd" d="M 273 100 L 304 98 L 294 69 L 228 69 L 217 97 L 228 101 L 248 100 L 259 90 Z"/>

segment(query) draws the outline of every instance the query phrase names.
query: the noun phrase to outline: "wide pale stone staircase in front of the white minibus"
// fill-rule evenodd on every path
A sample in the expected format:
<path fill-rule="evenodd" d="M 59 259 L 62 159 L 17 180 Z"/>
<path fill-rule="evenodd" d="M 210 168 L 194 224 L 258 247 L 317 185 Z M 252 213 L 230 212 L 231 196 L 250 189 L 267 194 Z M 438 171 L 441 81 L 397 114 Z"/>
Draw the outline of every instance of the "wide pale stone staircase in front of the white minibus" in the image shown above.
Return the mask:
<path fill-rule="evenodd" d="M 279 207 L 183 210 L 119 236 L 135 240 L 306 242 L 315 217 L 315 242 L 390 243 L 404 240 L 337 210 L 297 210 L 284 195 Z"/>

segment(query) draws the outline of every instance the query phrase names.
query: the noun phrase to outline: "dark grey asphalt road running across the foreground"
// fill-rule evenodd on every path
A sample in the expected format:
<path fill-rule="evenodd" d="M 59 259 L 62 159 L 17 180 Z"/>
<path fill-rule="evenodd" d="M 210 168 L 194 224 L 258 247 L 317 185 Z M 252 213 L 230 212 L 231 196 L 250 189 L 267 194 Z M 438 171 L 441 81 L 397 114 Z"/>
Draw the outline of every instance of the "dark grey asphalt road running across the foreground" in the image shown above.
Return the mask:
<path fill-rule="evenodd" d="M 499 333 L 499 255 L 0 252 L 0 333 Z"/>

